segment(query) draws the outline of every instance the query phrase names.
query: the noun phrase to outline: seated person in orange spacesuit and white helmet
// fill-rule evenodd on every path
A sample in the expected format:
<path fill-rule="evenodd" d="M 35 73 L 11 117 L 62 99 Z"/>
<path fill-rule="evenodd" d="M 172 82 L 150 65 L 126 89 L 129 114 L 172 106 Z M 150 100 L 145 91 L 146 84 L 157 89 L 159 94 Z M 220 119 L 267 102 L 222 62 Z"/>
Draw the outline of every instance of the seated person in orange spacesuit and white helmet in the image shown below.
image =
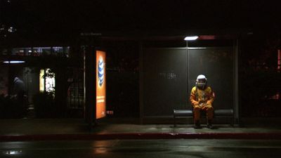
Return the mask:
<path fill-rule="evenodd" d="M 211 87 L 207 86 L 207 78 L 200 74 L 196 79 L 196 86 L 194 86 L 190 93 L 190 102 L 193 107 L 195 129 L 200 127 L 200 112 L 207 113 L 207 128 L 212 129 L 211 121 L 214 115 L 214 95 Z"/>

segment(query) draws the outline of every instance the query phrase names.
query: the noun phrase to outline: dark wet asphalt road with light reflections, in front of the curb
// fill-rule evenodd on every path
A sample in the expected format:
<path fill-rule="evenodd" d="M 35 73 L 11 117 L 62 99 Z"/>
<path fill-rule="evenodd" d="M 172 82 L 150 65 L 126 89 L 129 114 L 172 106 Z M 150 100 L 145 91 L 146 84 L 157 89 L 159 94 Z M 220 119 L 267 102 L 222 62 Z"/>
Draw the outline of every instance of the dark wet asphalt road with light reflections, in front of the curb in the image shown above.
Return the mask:
<path fill-rule="evenodd" d="M 281 157 L 281 140 L 72 140 L 1 142 L 0 157 Z"/>

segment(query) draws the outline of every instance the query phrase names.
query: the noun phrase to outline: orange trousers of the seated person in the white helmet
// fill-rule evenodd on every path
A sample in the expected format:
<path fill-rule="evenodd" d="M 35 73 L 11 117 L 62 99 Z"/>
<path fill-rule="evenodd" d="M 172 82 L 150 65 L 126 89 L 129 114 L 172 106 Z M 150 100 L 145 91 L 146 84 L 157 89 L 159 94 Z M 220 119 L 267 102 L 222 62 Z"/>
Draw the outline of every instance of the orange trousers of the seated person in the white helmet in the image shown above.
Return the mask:
<path fill-rule="evenodd" d="M 194 121 L 200 120 L 200 111 L 206 111 L 207 119 L 213 119 L 214 117 L 214 107 L 211 105 L 205 105 L 200 107 L 199 105 L 195 105 L 193 107 Z"/>

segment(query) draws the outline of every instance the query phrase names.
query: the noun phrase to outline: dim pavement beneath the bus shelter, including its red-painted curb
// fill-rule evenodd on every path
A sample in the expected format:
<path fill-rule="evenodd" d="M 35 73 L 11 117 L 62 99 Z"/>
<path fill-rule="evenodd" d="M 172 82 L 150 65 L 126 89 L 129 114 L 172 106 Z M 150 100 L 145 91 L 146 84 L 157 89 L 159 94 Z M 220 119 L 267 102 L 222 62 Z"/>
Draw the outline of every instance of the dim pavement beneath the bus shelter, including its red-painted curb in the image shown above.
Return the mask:
<path fill-rule="evenodd" d="M 281 139 L 280 126 L 244 127 L 215 124 L 215 129 L 193 129 L 179 124 L 117 124 L 100 121 L 89 131 L 84 119 L 0 119 L 0 141 L 107 140 L 107 139 Z"/>

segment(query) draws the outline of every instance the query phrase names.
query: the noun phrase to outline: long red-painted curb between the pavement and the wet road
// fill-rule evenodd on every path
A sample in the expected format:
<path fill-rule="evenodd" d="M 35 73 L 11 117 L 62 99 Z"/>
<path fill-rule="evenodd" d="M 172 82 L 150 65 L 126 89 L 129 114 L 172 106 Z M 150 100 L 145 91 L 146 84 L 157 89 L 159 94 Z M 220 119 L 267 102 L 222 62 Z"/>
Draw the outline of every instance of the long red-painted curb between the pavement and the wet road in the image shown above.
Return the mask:
<path fill-rule="evenodd" d="M 103 133 L 0 136 L 0 142 L 40 140 L 244 139 L 281 140 L 281 133 Z"/>

